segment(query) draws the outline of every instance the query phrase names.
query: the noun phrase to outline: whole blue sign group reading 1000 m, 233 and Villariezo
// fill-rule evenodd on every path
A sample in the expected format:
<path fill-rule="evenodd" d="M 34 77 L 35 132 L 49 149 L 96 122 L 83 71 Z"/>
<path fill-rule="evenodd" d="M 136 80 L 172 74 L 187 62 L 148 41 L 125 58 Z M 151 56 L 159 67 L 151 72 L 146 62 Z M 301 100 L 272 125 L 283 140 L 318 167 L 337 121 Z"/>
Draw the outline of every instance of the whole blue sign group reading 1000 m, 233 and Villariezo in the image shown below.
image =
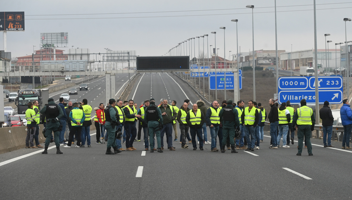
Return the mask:
<path fill-rule="evenodd" d="M 278 80 L 279 103 L 290 101 L 300 104 L 306 99 L 307 104 L 315 104 L 315 77 L 280 77 Z M 330 104 L 342 102 L 343 86 L 341 76 L 319 76 L 319 104 L 329 101 Z"/>

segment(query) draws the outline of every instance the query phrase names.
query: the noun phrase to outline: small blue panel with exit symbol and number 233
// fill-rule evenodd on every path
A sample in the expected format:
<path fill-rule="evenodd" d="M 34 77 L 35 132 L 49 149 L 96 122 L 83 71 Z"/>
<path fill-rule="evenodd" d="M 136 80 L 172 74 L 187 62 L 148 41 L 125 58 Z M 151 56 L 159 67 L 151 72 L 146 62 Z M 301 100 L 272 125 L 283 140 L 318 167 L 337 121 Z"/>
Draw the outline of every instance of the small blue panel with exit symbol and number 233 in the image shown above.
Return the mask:
<path fill-rule="evenodd" d="M 319 89 L 340 89 L 342 88 L 341 76 L 319 76 Z M 315 89 L 315 77 L 309 78 L 310 89 Z"/>

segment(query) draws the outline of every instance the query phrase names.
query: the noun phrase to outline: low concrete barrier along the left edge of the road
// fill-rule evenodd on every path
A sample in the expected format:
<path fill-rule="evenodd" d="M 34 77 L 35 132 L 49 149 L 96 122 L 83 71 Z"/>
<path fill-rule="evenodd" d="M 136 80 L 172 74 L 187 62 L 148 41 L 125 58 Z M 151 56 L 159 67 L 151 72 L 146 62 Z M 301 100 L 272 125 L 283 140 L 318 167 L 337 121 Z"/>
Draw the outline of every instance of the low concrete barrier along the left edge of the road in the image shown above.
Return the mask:
<path fill-rule="evenodd" d="M 26 147 L 26 126 L 14 126 L 1 128 L 0 133 L 0 154 L 14 151 Z M 44 126 L 39 124 L 39 143 L 43 143 L 45 138 L 42 134 Z M 34 142 L 34 140 L 33 140 Z M 44 146 L 44 145 L 42 145 Z"/>

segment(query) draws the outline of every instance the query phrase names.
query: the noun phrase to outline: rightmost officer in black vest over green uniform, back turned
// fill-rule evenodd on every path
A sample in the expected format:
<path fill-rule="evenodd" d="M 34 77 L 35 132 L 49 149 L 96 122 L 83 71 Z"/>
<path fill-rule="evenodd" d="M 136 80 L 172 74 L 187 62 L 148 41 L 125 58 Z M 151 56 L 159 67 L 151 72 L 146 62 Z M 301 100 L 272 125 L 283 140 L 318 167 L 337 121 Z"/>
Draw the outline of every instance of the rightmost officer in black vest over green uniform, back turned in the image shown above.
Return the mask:
<path fill-rule="evenodd" d="M 220 121 L 222 122 L 222 147 L 221 153 L 225 153 L 227 136 L 230 135 L 231 153 L 238 153 L 235 149 L 235 130 L 240 130 L 240 121 L 238 119 L 237 109 L 232 106 L 232 100 L 227 100 L 226 107 L 219 112 Z"/>

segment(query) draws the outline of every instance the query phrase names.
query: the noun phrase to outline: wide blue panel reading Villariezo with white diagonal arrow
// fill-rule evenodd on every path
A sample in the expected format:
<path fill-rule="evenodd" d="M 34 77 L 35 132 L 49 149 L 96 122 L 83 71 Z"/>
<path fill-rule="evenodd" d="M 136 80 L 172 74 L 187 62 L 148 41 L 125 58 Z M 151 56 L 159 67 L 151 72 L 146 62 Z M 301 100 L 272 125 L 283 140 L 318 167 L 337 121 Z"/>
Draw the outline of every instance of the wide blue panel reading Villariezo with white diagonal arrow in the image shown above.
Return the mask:
<path fill-rule="evenodd" d="M 300 104 L 306 99 L 307 104 L 315 104 L 315 90 L 284 90 L 279 92 L 279 104 L 290 100 L 291 104 Z M 341 90 L 319 90 L 319 104 L 329 101 L 330 104 L 342 102 Z"/>

